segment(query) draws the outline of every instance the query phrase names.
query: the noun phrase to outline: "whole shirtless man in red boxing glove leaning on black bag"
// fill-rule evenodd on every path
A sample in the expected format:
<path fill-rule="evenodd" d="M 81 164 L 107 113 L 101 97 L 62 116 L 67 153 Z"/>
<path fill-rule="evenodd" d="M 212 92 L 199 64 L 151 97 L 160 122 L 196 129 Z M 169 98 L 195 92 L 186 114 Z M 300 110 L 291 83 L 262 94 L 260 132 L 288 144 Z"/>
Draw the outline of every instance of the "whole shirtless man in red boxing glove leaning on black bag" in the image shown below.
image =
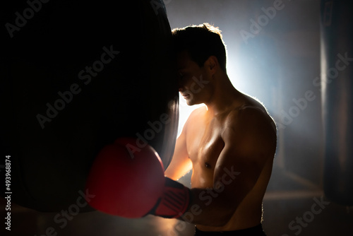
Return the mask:
<path fill-rule="evenodd" d="M 97 155 L 87 181 L 90 206 L 112 215 L 152 214 L 196 225 L 196 235 L 265 235 L 262 201 L 276 148 L 273 119 L 232 86 L 220 30 L 173 32 L 179 90 L 195 110 L 166 172 L 154 149 L 121 137 Z M 119 158 L 117 158 L 119 157 Z M 189 170 L 192 188 L 175 181 Z"/>

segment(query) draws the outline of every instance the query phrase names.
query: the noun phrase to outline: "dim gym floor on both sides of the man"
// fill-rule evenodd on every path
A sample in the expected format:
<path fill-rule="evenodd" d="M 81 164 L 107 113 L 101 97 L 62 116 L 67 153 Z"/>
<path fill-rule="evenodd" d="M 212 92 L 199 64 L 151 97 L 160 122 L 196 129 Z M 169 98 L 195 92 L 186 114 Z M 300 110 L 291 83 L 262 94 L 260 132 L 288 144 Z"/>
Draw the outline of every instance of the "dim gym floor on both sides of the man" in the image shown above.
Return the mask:
<path fill-rule="evenodd" d="M 187 184 L 188 176 L 181 179 L 181 182 Z M 353 208 L 329 203 L 327 199 L 321 199 L 322 195 L 322 191 L 306 179 L 275 169 L 263 203 L 265 232 L 270 236 L 352 236 Z M 321 201 L 322 207 L 313 206 L 316 201 Z M 4 213 L 4 199 L 1 199 L 2 219 L 5 217 Z M 5 230 L 3 223 L 0 235 L 193 235 L 193 225 L 155 216 L 130 220 L 99 212 L 80 213 L 68 220 L 67 225 L 63 227 L 63 222 L 54 221 L 57 213 L 37 213 L 16 206 L 11 208 L 11 214 L 11 232 Z M 300 218 L 303 218 L 301 222 Z"/>

